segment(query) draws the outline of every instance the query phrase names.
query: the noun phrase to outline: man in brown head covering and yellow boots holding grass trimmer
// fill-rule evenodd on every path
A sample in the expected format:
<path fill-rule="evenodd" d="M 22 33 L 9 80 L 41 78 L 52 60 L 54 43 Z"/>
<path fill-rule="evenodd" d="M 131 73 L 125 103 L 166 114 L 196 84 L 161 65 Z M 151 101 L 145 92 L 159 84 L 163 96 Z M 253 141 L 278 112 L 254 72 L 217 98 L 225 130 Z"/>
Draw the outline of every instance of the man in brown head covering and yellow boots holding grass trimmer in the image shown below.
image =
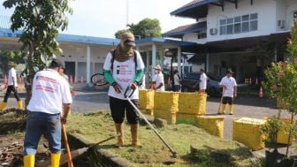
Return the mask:
<path fill-rule="evenodd" d="M 108 95 L 110 96 L 111 117 L 119 134 L 117 147 L 124 145 L 123 122 L 126 115 L 127 122 L 131 125 L 132 145 L 140 147 L 138 141 L 138 119 L 139 115 L 133 106 L 124 97 L 126 87 L 134 89 L 130 97 L 135 106 L 138 106 L 139 91 L 138 85 L 144 74 L 144 64 L 141 54 L 133 49 L 135 47 L 132 33 L 120 35 L 120 44 L 111 50 L 106 56 L 103 73 L 110 84 Z"/>

